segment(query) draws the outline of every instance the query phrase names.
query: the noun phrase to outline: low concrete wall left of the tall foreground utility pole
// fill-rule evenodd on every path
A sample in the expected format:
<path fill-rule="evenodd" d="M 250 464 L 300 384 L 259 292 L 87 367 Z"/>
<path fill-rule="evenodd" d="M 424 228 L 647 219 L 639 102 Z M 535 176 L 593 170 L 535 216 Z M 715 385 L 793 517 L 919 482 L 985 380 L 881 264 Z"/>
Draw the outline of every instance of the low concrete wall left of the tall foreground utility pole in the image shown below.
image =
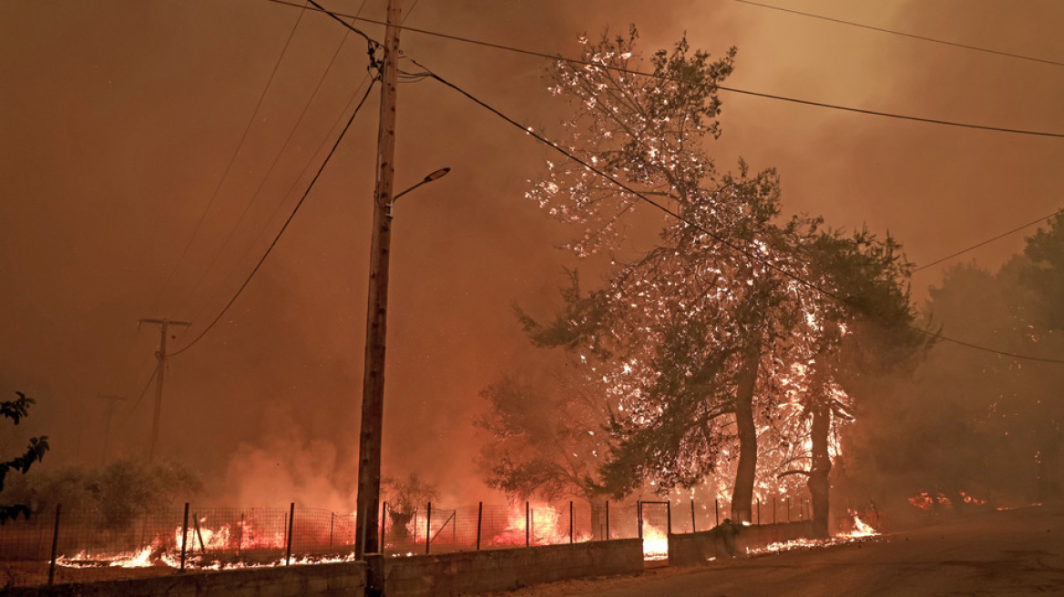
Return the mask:
<path fill-rule="evenodd" d="M 165 577 L 9 589 L 10 597 L 363 597 L 362 562 L 243 568 Z"/>

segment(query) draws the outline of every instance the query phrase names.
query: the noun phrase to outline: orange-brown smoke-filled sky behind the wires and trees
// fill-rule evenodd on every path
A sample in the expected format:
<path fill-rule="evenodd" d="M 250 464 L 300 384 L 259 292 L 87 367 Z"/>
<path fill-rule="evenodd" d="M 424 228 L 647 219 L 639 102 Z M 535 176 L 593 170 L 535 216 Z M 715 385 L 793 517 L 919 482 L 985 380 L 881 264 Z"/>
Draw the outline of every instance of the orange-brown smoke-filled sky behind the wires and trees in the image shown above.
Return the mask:
<path fill-rule="evenodd" d="M 384 4 L 325 3 L 378 19 Z M 404 4 L 411 27 L 570 56 L 580 34 L 635 23 L 645 54 L 684 34 L 714 55 L 737 47 L 727 82 L 737 88 L 1064 133 L 1064 67 L 734 0 Z M 1054 0 L 778 4 L 1064 61 Z M 546 90 L 548 61 L 410 31 L 401 45 L 526 124 L 559 131 L 567 108 Z M 4 454 L 48 433 L 46 462 L 99 462 L 101 393 L 129 397 L 112 446 L 146 451 L 153 394 L 137 397 L 159 329 L 138 331 L 137 320 L 194 322 L 170 352 L 203 330 L 306 188 L 365 74 L 364 41 L 266 0 L 0 3 L 0 391 L 38 399 L 18 433 L 0 437 Z M 739 156 L 776 167 L 787 212 L 890 231 L 917 265 L 1061 207 L 1058 138 L 721 97 L 719 168 Z M 375 91 L 244 294 L 170 360 L 162 451 L 240 505 L 338 508 L 349 497 L 334 488 L 355 467 L 377 110 Z M 385 474 L 418 471 L 446 501 L 489 500 L 472 463 L 478 393 L 536 358 L 512 305 L 550 312 L 563 268 L 579 265 L 555 246 L 575 232 L 523 197 L 551 157 L 531 137 L 431 80 L 400 86 L 398 114 L 398 189 L 452 171 L 397 208 Z M 652 228 L 650 211 L 636 216 Z M 1021 241 L 964 258 L 994 268 Z M 582 267 L 599 279 L 596 263 Z M 941 271 L 918 273 L 914 295 Z"/>

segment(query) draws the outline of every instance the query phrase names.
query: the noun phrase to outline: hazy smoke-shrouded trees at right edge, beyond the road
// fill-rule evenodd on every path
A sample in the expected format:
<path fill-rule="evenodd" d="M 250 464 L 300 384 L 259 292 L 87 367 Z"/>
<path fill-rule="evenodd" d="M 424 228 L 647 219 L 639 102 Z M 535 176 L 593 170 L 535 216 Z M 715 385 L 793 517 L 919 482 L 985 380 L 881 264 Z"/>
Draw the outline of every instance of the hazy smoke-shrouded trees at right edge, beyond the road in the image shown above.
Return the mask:
<path fill-rule="evenodd" d="M 1028 238 L 997 272 L 949 268 L 927 311 L 943 328 L 1014 354 L 1064 353 L 1064 221 Z M 955 331 L 954 331 L 955 332 Z M 862 481 L 928 510 L 982 501 L 1023 504 L 1060 491 L 1064 409 L 1059 365 L 942 343 L 890 400 L 868 405 L 853 438 Z M 891 427 L 886 423 L 890 422 Z M 903 427 L 905 433 L 891 431 Z M 860 475 L 860 473 L 859 473 Z"/>

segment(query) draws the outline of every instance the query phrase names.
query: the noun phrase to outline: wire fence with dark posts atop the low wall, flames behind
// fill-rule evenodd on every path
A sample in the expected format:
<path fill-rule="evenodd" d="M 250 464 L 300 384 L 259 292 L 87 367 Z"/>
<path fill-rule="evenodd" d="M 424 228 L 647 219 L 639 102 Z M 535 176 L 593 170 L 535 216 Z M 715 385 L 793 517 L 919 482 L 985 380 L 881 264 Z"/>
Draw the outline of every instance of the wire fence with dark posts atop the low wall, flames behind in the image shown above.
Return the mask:
<path fill-rule="evenodd" d="M 413 511 L 383 505 L 378 529 L 389 558 L 644 540 L 648 555 L 669 532 L 705 531 L 730 505 L 696 501 L 517 502 Z M 754 524 L 808 519 L 808 499 L 758 501 Z M 207 508 L 186 505 L 133 518 L 56 511 L 0 525 L 0 590 L 222 569 L 352 560 L 353 514 L 313 508 Z M 667 543 L 667 541 L 665 541 Z M 667 549 L 667 548 L 666 548 Z M 648 556 L 650 557 L 650 556 Z"/>

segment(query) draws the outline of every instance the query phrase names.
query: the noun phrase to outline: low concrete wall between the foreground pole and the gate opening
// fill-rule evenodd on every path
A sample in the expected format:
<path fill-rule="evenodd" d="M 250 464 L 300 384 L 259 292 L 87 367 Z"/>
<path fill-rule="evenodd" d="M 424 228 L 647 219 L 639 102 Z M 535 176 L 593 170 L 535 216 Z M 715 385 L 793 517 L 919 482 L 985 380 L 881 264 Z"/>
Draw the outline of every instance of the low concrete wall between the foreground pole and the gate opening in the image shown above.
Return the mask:
<path fill-rule="evenodd" d="M 641 572 L 643 542 L 624 539 L 388 558 L 384 578 L 388 597 L 449 597 L 508 591 L 567 578 Z"/>

